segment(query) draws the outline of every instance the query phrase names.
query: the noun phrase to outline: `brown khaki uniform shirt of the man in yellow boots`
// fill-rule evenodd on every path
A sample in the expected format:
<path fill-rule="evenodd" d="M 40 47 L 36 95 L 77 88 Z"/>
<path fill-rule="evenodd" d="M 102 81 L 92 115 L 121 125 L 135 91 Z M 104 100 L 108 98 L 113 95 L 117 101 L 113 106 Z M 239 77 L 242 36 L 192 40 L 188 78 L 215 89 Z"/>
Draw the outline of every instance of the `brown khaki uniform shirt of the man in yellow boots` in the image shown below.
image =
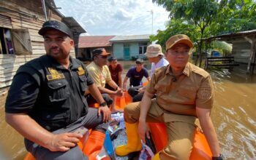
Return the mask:
<path fill-rule="evenodd" d="M 170 65 L 159 68 L 146 90 L 157 94 L 157 104 L 170 113 L 196 116 L 195 108 L 212 108 L 214 90 L 209 73 L 187 63 L 183 73 L 174 78 Z"/>

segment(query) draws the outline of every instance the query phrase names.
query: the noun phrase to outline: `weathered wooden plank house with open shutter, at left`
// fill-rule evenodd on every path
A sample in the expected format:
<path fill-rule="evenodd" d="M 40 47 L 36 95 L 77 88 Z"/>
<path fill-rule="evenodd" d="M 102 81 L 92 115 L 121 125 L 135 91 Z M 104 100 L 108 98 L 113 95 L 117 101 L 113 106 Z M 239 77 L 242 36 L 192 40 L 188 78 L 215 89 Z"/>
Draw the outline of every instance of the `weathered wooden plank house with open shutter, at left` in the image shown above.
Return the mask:
<path fill-rule="evenodd" d="M 72 49 L 71 55 L 75 57 L 79 35 L 86 31 L 72 17 L 61 15 L 53 0 L 0 1 L 1 97 L 6 95 L 7 87 L 12 83 L 20 65 L 45 55 L 43 39 L 38 31 L 46 20 L 59 20 L 69 26 L 75 41 L 75 49 Z"/>

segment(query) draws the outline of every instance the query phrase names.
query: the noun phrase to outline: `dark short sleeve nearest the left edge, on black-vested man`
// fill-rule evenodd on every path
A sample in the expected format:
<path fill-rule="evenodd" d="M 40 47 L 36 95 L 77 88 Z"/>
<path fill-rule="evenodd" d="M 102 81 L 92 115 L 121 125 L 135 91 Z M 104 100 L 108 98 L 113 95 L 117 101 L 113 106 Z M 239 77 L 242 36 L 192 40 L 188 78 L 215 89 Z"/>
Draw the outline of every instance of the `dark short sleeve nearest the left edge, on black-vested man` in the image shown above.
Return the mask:
<path fill-rule="evenodd" d="M 18 73 L 12 80 L 7 100 L 6 113 L 28 113 L 34 107 L 39 93 L 37 81 L 29 73 Z"/>

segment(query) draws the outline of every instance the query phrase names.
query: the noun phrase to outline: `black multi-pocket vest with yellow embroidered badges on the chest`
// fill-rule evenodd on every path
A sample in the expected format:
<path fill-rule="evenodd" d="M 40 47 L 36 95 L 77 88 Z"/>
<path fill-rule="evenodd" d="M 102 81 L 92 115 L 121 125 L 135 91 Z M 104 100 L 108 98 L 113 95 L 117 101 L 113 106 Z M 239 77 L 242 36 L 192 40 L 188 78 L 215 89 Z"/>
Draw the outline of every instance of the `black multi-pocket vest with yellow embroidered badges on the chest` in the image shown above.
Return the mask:
<path fill-rule="evenodd" d="M 22 65 L 17 71 L 29 73 L 37 81 L 39 94 L 29 116 L 50 132 L 66 127 L 88 111 L 86 97 L 83 96 L 88 88 L 86 68 L 79 60 L 71 59 L 70 70 L 63 68 L 52 57 L 43 55 Z M 72 76 L 65 76 L 65 72 Z M 70 87 L 70 80 L 75 81 L 75 87 Z"/>

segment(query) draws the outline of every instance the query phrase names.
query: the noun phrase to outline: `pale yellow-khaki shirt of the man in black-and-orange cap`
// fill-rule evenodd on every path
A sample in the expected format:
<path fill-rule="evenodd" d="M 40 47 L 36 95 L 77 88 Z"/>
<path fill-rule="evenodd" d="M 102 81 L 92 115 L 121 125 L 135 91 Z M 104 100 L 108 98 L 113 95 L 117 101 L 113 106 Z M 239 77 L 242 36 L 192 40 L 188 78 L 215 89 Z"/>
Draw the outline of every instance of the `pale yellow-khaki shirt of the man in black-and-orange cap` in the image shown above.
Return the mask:
<path fill-rule="evenodd" d="M 112 80 L 108 65 L 100 68 L 93 61 L 86 68 L 97 87 L 105 87 L 105 84 L 108 84 L 108 81 Z"/>

